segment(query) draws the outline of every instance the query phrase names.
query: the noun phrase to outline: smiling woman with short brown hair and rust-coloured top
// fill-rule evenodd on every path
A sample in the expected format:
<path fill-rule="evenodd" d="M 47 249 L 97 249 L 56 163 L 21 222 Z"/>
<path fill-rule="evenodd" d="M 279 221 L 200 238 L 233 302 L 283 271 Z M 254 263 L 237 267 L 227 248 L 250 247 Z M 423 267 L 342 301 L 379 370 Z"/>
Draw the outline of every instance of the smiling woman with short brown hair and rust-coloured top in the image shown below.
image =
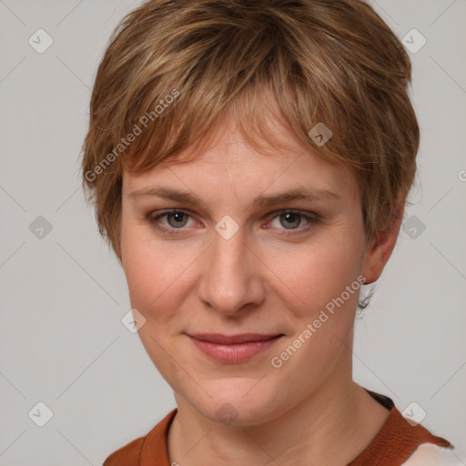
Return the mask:
<path fill-rule="evenodd" d="M 409 84 L 359 0 L 152 0 L 122 21 L 83 180 L 177 409 L 105 466 L 455 464 L 351 373 L 416 170 Z"/>

